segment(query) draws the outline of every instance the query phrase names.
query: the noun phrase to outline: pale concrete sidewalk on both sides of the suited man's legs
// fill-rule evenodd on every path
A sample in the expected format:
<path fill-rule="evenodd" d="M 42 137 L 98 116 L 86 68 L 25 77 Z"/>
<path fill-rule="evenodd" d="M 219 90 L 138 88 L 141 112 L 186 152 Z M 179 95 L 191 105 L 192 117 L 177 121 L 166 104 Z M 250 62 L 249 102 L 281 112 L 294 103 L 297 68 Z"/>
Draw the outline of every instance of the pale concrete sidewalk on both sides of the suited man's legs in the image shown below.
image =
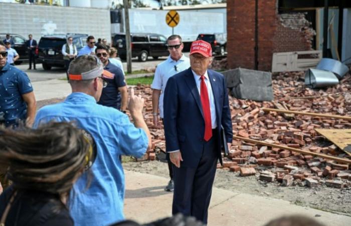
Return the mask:
<path fill-rule="evenodd" d="M 125 171 L 124 213 L 139 223 L 170 216 L 172 192 L 165 192 L 168 179 Z M 329 226 L 348 226 L 351 217 L 290 204 L 287 201 L 214 188 L 208 225 L 262 226 L 284 214 L 303 214 Z M 315 217 L 315 215 L 320 217 Z"/>

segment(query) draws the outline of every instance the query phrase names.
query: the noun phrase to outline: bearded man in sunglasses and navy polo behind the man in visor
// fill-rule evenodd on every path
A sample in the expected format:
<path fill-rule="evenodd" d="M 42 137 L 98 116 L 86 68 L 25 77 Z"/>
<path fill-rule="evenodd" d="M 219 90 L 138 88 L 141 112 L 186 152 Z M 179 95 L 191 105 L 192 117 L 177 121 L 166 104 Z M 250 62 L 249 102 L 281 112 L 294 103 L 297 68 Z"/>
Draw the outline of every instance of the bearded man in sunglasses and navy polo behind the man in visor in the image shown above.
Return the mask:
<path fill-rule="evenodd" d="M 114 107 L 125 113 L 128 102 L 128 90 L 121 69 L 110 62 L 108 48 L 99 44 L 95 49 L 96 56 L 101 60 L 104 69 L 114 74 L 113 79 L 106 79 L 107 86 L 102 89 L 98 104 Z"/>

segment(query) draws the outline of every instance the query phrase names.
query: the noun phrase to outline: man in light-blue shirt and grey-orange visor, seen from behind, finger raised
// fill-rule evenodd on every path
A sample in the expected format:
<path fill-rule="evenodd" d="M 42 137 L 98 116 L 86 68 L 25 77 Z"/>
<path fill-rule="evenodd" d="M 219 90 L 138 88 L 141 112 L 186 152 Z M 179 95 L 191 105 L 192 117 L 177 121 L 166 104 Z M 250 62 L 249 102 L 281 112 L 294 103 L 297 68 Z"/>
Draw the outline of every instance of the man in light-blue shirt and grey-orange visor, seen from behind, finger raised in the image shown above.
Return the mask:
<path fill-rule="evenodd" d="M 121 155 L 138 158 L 151 147 L 150 132 L 142 115 L 144 99 L 134 95 L 133 89 L 128 109 L 134 125 L 119 110 L 96 103 L 107 85 L 104 79 L 112 76 L 95 56 L 76 58 L 69 67 L 72 93 L 62 103 L 41 108 L 35 121 L 35 127 L 53 120 L 71 121 L 89 132 L 96 142 L 97 156 L 91 173 L 78 178 L 69 200 L 76 226 L 109 225 L 124 219 Z"/>

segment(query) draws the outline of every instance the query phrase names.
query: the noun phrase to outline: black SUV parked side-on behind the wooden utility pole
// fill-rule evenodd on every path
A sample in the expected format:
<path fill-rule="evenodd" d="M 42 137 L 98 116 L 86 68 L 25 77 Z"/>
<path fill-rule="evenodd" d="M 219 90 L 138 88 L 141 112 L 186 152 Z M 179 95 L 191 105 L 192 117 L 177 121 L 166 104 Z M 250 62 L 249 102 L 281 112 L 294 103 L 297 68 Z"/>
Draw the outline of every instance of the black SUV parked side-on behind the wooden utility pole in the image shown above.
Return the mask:
<path fill-rule="evenodd" d="M 131 35 L 132 57 L 138 57 L 139 61 L 146 61 L 151 56 L 157 59 L 160 56 L 168 56 L 167 38 L 163 35 L 152 33 L 137 33 Z M 113 46 L 117 49 L 121 59 L 126 59 L 125 34 L 119 33 L 112 37 Z"/>

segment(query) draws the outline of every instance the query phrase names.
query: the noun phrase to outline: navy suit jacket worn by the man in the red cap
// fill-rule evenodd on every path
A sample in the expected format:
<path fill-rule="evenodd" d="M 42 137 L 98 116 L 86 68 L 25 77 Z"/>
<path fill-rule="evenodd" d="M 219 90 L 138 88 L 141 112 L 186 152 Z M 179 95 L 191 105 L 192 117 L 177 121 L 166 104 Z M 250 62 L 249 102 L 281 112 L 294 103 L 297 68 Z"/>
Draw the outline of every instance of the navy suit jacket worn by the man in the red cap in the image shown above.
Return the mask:
<path fill-rule="evenodd" d="M 221 125 L 227 142 L 231 143 L 233 139 L 228 91 L 222 74 L 213 70 L 207 70 L 207 73 L 216 106 L 217 130 L 213 136 L 219 138 L 216 151 L 222 164 Z M 183 158 L 181 165 L 197 167 L 205 142 L 205 120 L 200 94 L 191 68 L 168 79 L 164 91 L 163 111 L 166 151 L 181 150 Z"/>

